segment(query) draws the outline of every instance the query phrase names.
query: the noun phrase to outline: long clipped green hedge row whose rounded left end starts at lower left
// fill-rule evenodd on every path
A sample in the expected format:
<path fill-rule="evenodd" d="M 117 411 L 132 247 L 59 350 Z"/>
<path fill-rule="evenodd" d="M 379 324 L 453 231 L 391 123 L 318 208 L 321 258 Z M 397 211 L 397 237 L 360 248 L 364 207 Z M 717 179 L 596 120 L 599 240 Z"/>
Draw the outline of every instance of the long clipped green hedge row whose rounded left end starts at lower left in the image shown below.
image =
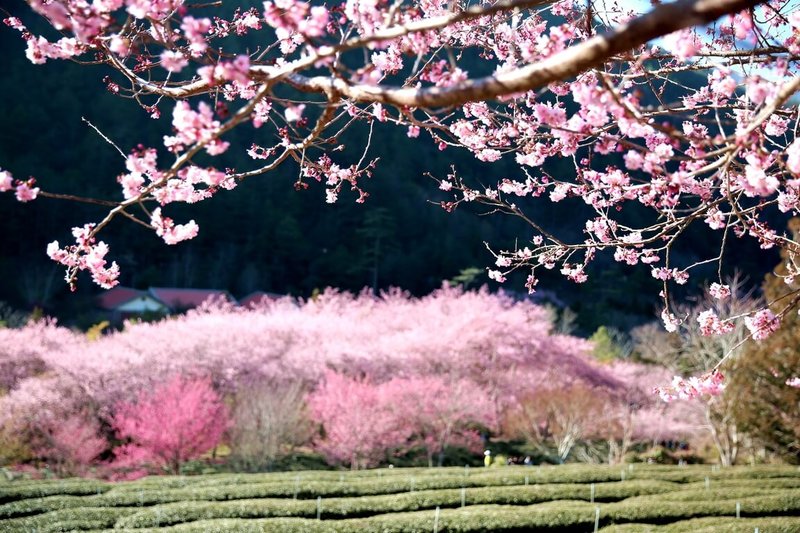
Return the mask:
<path fill-rule="evenodd" d="M 661 494 L 673 490 L 665 482 L 601 483 L 595 487 L 597 501 L 616 501 L 641 494 Z M 586 485 L 531 485 L 528 487 L 482 487 L 466 489 L 465 505 L 530 505 L 557 500 L 589 500 Z M 461 490 L 420 491 L 391 496 L 330 498 L 320 500 L 238 500 L 232 502 L 180 502 L 143 509 L 118 522 L 118 527 L 153 527 L 212 518 L 267 518 L 276 516 L 346 518 L 383 513 L 459 507 Z"/>

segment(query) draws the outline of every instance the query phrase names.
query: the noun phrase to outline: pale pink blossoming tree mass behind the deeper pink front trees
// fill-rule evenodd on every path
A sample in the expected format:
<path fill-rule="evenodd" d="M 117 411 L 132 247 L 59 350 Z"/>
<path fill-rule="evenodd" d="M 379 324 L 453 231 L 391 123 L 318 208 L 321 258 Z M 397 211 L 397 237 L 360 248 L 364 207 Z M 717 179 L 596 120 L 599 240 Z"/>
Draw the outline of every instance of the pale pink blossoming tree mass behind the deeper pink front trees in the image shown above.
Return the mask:
<path fill-rule="evenodd" d="M 585 341 L 551 327 L 548 313 L 529 301 L 449 287 L 421 298 L 326 291 L 252 309 L 211 304 L 94 340 L 32 322 L 0 329 L 7 341 L 0 364 L 29 369 L 9 379 L 9 393 L 0 396 L 0 428 L 49 427 L 47 418 L 66 418 L 81 406 L 108 420 L 117 403 L 135 403 L 175 374 L 208 377 L 220 394 L 240 399 L 263 382 L 293 382 L 305 393 L 328 370 L 375 383 L 469 380 L 495 413 L 550 373 L 548 379 L 611 379 L 585 356 Z"/>

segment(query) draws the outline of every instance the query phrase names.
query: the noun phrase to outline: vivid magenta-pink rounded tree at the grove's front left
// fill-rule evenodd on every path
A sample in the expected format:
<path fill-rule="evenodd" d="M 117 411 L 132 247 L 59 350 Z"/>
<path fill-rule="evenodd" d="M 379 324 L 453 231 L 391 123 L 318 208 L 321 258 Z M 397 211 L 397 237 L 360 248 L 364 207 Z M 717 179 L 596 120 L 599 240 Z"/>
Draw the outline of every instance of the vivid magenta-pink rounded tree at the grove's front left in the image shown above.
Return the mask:
<path fill-rule="evenodd" d="M 219 444 L 228 409 L 208 380 L 178 375 L 119 404 L 112 425 L 128 442 L 116 450 L 118 466 L 152 464 L 178 474 L 183 463 Z"/>

